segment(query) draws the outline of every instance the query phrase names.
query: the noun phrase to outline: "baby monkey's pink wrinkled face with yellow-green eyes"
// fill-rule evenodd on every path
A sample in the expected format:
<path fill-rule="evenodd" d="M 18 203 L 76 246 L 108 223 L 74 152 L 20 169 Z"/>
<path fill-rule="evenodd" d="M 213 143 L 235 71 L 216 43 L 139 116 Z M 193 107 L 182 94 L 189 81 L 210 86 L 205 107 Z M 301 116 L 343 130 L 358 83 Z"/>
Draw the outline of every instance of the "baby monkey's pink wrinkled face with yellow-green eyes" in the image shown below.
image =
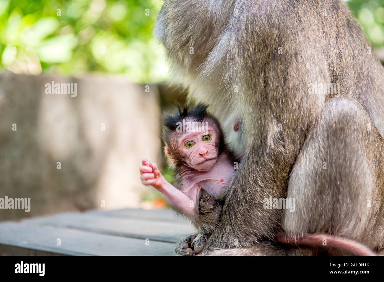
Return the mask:
<path fill-rule="evenodd" d="M 209 171 L 217 161 L 216 139 L 214 128 L 208 128 L 205 132 L 182 133 L 179 148 L 185 156 L 185 162 L 198 171 Z"/>

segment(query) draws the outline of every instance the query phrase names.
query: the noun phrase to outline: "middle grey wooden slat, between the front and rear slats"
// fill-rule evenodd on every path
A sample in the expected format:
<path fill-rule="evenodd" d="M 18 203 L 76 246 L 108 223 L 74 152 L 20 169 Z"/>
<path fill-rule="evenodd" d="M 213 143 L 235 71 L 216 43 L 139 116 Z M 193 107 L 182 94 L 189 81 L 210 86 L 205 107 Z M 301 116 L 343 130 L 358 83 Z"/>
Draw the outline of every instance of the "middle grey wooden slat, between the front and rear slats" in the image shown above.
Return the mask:
<path fill-rule="evenodd" d="M 28 218 L 22 223 L 58 226 L 129 238 L 149 238 L 169 243 L 176 243 L 185 234 L 193 232 L 192 226 L 185 222 L 110 217 L 98 213 L 62 213 Z"/>

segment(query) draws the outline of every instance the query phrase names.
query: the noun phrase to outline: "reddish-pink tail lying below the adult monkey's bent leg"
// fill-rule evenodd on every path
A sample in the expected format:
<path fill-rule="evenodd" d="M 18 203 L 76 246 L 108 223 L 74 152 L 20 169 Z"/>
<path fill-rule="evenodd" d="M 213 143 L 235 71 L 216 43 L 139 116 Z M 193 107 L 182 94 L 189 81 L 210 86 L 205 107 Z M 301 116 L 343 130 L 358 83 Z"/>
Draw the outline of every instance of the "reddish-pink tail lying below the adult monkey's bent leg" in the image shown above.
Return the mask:
<path fill-rule="evenodd" d="M 325 246 L 324 239 L 326 240 Z M 280 232 L 276 234 L 276 241 L 282 244 L 336 248 L 351 252 L 358 256 L 376 256 L 375 252 L 371 251 L 369 248 L 357 241 L 328 234 L 305 234 L 302 236 L 288 236 L 286 233 Z"/>

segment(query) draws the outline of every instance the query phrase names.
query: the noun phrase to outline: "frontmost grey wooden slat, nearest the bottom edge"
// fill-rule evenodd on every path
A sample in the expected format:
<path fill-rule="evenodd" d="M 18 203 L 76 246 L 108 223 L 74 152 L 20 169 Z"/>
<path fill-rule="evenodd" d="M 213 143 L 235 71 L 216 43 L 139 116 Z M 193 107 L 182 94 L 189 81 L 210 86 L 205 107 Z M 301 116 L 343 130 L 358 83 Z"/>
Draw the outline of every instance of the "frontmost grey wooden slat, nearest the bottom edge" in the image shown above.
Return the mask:
<path fill-rule="evenodd" d="M 61 246 L 57 246 L 57 239 Z M 144 239 L 95 234 L 54 226 L 28 223 L 0 223 L 0 253 L 2 247 L 14 246 L 66 255 L 174 255 L 174 244 Z"/>

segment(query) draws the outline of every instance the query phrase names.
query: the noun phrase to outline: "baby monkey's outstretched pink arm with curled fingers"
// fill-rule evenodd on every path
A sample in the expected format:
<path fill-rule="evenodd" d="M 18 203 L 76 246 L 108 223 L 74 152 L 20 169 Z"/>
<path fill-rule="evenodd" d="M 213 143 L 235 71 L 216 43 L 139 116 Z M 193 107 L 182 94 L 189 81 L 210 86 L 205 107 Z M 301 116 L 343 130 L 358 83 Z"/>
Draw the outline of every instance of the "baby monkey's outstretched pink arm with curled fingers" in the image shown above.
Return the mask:
<path fill-rule="evenodd" d="M 143 159 L 140 174 L 141 183 L 155 187 L 167 198 L 175 209 L 188 216 L 196 213 L 196 199 L 192 200 L 179 189 L 172 186 L 172 184 L 161 175 L 155 163 Z"/>

